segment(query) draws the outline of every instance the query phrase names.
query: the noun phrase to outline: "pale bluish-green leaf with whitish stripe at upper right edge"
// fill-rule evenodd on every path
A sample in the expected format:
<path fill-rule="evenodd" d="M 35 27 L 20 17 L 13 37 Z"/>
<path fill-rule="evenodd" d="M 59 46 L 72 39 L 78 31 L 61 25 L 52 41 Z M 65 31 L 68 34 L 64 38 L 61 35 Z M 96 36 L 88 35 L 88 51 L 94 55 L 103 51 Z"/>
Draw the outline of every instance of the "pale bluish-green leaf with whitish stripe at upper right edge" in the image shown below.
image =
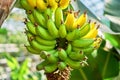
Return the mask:
<path fill-rule="evenodd" d="M 106 0 L 105 16 L 110 20 L 110 28 L 115 32 L 120 32 L 120 4 L 119 0 Z"/>

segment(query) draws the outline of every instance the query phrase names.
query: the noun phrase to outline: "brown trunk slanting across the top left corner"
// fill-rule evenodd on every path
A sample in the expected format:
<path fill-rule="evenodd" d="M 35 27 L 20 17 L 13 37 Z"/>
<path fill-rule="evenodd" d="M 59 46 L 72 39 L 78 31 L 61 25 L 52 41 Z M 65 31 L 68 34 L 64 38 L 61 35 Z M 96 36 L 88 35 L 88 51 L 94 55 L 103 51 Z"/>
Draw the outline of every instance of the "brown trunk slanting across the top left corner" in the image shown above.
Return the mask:
<path fill-rule="evenodd" d="M 17 0 L 0 0 L 0 27 Z"/>

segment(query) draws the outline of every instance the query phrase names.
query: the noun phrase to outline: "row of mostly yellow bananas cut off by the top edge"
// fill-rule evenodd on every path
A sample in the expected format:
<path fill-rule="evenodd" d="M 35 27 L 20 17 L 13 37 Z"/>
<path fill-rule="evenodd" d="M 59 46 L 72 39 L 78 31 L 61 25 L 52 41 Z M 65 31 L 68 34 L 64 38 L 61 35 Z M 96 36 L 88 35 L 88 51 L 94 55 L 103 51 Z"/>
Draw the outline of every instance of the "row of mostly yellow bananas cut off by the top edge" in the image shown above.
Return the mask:
<path fill-rule="evenodd" d="M 70 0 L 20 0 L 23 9 L 29 11 L 37 8 L 39 11 L 44 12 L 47 8 L 55 11 L 57 7 L 66 9 L 70 4 Z"/>

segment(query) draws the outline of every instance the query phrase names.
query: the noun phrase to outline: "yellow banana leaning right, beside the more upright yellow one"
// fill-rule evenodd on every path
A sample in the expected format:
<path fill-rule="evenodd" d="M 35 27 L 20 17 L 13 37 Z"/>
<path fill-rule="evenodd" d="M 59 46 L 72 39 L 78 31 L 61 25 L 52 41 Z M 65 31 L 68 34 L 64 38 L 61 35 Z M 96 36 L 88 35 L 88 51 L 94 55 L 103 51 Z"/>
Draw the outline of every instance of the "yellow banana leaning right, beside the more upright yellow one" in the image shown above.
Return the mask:
<path fill-rule="evenodd" d="M 87 13 L 84 12 L 80 17 L 75 21 L 73 28 L 81 27 L 87 21 Z"/>

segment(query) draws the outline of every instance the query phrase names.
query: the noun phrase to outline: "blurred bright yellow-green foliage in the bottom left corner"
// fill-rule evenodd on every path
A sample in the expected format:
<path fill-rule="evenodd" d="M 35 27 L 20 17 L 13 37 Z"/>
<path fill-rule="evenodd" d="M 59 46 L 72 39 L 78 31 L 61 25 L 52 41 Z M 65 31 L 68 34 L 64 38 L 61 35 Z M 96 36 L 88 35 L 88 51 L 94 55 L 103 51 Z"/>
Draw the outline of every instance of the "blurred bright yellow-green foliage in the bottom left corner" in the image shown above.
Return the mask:
<path fill-rule="evenodd" d="M 5 58 L 7 59 L 7 65 L 11 69 L 11 80 L 41 80 L 41 73 L 30 72 L 29 58 L 26 58 L 22 64 L 19 64 L 17 59 L 12 57 L 8 53 L 5 54 Z"/>

